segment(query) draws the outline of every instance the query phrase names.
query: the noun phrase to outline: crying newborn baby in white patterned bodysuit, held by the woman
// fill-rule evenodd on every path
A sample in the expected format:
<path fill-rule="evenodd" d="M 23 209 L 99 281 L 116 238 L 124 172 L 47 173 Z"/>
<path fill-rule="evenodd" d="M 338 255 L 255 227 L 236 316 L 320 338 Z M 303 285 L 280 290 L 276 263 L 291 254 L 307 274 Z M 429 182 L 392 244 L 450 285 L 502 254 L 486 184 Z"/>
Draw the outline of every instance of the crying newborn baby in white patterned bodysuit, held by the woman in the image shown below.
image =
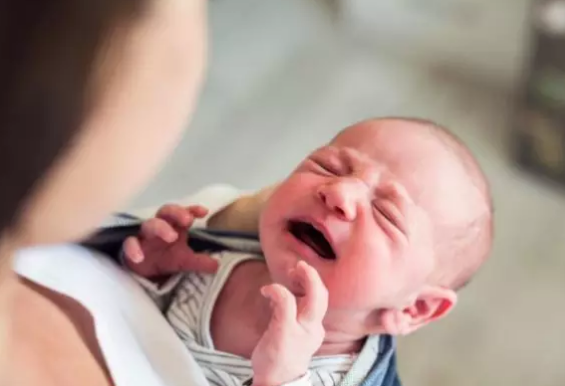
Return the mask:
<path fill-rule="evenodd" d="M 261 254 L 192 251 L 199 206 L 164 206 L 124 243 L 212 385 L 362 383 L 380 339 L 445 316 L 492 244 L 480 167 L 423 120 L 343 130 L 261 205 Z"/>

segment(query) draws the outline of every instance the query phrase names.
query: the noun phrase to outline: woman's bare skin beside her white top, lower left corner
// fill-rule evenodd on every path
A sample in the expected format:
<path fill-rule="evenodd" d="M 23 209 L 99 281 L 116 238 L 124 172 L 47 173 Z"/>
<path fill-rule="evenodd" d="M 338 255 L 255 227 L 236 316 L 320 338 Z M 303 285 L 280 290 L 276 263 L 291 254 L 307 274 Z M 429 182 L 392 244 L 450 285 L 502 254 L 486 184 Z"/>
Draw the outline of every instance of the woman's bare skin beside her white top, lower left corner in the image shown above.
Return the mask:
<path fill-rule="evenodd" d="M 80 374 L 81 385 L 112 385 L 86 308 L 26 279 L 14 293 L 8 384 L 74 386 Z"/>

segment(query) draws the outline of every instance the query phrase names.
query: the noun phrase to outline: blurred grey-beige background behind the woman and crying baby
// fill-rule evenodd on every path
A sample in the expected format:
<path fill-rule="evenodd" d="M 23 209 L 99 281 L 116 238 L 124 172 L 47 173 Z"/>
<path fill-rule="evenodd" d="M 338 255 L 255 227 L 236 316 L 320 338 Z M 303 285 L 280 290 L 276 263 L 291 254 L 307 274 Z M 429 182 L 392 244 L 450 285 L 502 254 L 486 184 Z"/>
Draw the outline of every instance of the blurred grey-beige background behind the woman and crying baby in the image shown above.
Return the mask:
<path fill-rule="evenodd" d="M 457 310 L 401 340 L 403 381 L 565 385 L 563 1 L 209 4 L 211 67 L 196 119 L 134 206 L 211 183 L 260 188 L 364 118 L 433 119 L 490 177 L 496 245 Z"/>

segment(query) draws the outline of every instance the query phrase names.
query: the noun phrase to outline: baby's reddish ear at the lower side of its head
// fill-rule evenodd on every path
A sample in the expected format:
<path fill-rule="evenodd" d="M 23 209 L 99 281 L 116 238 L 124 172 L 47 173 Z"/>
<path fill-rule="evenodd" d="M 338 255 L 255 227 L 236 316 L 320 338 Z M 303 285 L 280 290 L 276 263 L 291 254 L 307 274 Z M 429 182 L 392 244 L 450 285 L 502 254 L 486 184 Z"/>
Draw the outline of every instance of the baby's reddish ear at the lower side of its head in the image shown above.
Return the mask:
<path fill-rule="evenodd" d="M 426 324 L 439 320 L 457 303 L 455 291 L 429 286 L 404 309 L 388 309 L 381 312 L 381 326 L 390 335 L 408 335 Z"/>

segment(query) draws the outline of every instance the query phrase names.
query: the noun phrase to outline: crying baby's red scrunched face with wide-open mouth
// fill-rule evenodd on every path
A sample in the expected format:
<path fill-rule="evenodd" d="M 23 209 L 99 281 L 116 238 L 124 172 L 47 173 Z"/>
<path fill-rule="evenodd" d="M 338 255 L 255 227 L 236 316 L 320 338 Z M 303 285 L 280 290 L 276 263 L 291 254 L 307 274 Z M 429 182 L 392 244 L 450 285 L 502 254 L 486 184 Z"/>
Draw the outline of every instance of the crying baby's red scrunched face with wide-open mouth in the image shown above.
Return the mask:
<path fill-rule="evenodd" d="M 349 128 L 278 187 L 260 223 L 275 281 L 298 292 L 288 271 L 305 260 L 330 308 L 356 311 L 403 307 L 424 285 L 441 209 L 461 206 L 445 189 L 460 171 L 437 140 L 406 125 Z"/>

